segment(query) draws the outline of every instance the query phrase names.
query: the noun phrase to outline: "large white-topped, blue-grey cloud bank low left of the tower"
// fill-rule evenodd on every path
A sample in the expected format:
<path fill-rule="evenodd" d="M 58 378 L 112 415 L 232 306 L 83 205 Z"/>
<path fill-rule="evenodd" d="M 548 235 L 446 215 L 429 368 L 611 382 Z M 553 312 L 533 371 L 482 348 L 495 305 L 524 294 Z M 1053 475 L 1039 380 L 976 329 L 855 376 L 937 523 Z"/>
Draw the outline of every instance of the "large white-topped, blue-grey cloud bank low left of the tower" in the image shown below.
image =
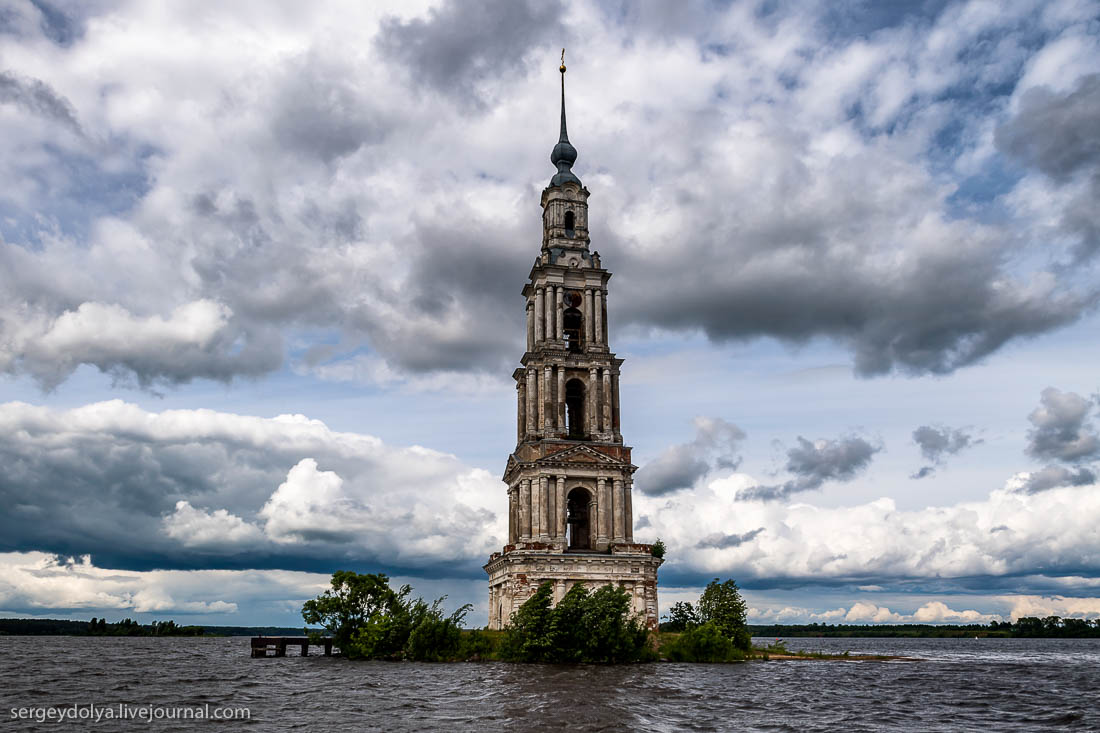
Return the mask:
<path fill-rule="evenodd" d="M 344 562 L 480 576 L 504 544 L 486 471 L 300 415 L 0 405 L 0 550 L 108 566 L 283 568 Z"/>

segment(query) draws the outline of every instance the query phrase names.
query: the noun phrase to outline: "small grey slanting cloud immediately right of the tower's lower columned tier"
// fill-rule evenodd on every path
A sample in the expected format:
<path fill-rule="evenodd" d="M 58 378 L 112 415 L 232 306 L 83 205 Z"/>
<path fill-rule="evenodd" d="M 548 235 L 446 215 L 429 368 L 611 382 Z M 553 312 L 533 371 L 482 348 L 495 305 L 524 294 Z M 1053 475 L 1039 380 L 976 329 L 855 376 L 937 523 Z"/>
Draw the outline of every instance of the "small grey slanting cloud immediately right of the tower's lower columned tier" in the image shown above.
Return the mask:
<path fill-rule="evenodd" d="M 714 470 L 733 470 L 740 463 L 736 456 L 745 431 L 717 417 L 695 418 L 695 438 L 669 446 L 660 456 L 638 470 L 638 490 L 660 496 L 690 489 Z"/>

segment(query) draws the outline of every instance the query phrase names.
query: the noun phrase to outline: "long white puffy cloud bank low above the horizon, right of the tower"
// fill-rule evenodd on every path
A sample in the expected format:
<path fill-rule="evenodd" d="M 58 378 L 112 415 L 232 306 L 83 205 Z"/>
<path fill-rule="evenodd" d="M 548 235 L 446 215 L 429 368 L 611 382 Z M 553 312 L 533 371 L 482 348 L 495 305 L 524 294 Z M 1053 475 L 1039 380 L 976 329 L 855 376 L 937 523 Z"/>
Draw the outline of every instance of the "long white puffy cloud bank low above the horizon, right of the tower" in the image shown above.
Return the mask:
<path fill-rule="evenodd" d="M 735 501 L 744 481 L 735 475 L 690 495 L 636 497 L 635 512 L 650 526 L 635 536 L 660 537 L 669 547 L 663 582 L 723 575 L 747 588 L 812 582 L 958 592 L 1002 581 L 1038 590 L 1043 578 L 1100 572 L 1096 484 L 1026 493 L 1010 482 L 980 501 L 906 510 L 886 497 L 837 506 Z M 750 543 L 700 543 L 758 528 Z"/>

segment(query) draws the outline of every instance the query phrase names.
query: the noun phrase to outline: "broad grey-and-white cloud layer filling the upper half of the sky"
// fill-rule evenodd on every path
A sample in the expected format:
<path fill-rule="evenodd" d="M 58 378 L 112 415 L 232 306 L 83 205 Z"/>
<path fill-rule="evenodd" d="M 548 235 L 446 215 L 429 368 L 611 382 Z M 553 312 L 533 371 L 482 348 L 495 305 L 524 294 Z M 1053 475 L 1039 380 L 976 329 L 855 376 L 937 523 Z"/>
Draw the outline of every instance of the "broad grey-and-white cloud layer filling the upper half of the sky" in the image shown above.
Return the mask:
<path fill-rule="evenodd" d="M 80 12 L 98 22 L 21 6 L 4 36 L 0 370 L 45 389 L 70 364 L 146 389 L 364 353 L 400 379 L 502 370 L 522 350 L 561 39 L 613 335 L 824 337 L 864 375 L 947 373 L 1097 303 L 1089 272 L 1047 265 L 1066 248 L 1043 204 L 1096 228 L 1096 69 L 1027 92 L 1058 44 L 1090 57 L 1086 9 Z M 1015 188 L 1001 124 L 1038 166 Z M 1080 142 L 1021 147 L 1047 128 Z M 1011 192 L 968 199 L 983 176 Z M 150 358 L 150 329 L 125 353 L 38 343 L 81 308 L 168 324 L 197 303 L 231 315 L 182 359 Z"/>

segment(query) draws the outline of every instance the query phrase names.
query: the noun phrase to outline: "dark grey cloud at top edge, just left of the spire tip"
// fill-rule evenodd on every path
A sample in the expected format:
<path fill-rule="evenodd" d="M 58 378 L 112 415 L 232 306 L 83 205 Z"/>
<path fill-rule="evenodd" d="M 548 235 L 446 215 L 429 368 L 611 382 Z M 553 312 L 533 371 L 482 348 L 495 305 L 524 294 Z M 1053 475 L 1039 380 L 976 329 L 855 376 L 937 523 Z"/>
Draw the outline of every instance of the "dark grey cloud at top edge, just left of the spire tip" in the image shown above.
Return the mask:
<path fill-rule="evenodd" d="M 447 0 L 427 19 L 384 21 L 377 44 L 416 83 L 480 106 L 480 84 L 525 73 L 532 48 L 565 45 L 562 12 L 558 0 Z"/>

